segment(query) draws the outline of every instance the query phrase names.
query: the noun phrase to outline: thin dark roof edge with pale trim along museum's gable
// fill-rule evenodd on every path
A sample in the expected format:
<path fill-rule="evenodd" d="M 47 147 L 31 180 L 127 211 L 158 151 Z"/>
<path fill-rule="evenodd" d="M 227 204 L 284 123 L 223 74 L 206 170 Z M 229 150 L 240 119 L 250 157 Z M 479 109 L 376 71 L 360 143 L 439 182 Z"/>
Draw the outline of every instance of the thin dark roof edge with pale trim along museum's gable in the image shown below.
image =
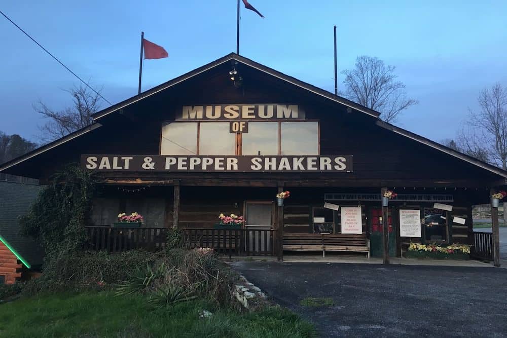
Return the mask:
<path fill-rule="evenodd" d="M 260 64 L 258 62 L 253 61 L 253 60 L 250 60 L 248 58 L 240 56 L 240 55 L 238 55 L 236 53 L 230 53 L 230 54 L 228 54 L 228 55 L 226 55 L 226 56 L 224 56 L 222 58 L 219 58 L 219 59 L 217 59 L 215 61 L 212 61 L 212 62 L 210 62 L 208 64 L 205 64 L 205 65 L 203 65 L 203 66 L 201 66 L 199 68 L 196 68 L 196 69 L 194 69 L 194 70 L 192 70 L 192 71 L 190 71 L 190 72 L 188 72 L 186 74 L 183 74 L 182 76 L 174 78 L 174 79 L 172 79 L 172 80 L 170 80 L 168 82 L 165 82 L 165 83 L 163 83 L 163 84 L 161 84 L 159 86 L 156 86 L 156 87 L 154 87 L 154 88 L 152 88 L 152 89 L 150 89 L 148 91 L 145 91 L 145 92 L 143 92 L 143 93 L 141 93 L 139 95 L 133 96 L 133 97 L 127 99 L 127 100 L 124 100 L 122 102 L 119 102 L 117 104 L 114 104 L 114 105 L 112 105 L 110 107 L 107 107 L 105 109 L 102 109 L 102 110 L 96 112 L 95 114 L 92 115 L 92 117 L 94 119 L 94 122 L 90 126 L 85 127 L 85 128 L 83 128 L 81 130 L 78 130 L 78 131 L 76 131 L 74 133 L 71 133 L 71 134 L 69 134 L 69 135 L 67 135 L 65 137 L 62 137 L 62 138 L 60 138 L 58 140 L 55 140 L 55 141 L 53 141 L 51 143 L 48 143 L 48 144 L 44 145 L 44 146 L 41 146 L 40 148 L 35 149 L 34 151 L 32 151 L 32 152 L 30 152 L 28 154 L 25 154 L 25 155 L 23 155 L 23 156 L 21 156 L 21 157 L 19 157 L 17 159 L 14 159 L 14 160 L 12 160 L 10 162 L 4 163 L 3 165 L 0 165 L 0 172 L 6 170 L 8 168 L 11 168 L 11 167 L 13 167 L 13 166 L 15 166 L 15 165 L 23 162 L 23 161 L 26 161 L 26 160 L 28 160 L 28 159 L 30 159 L 32 157 L 38 156 L 39 154 L 42 154 L 42 153 L 48 151 L 49 149 L 57 147 L 57 146 L 65 143 L 65 142 L 73 140 L 73 139 L 75 139 L 77 137 L 80 137 L 80 136 L 82 136 L 84 134 L 87 134 L 87 133 L 89 133 L 89 132 L 91 132 L 91 131 L 93 131 L 93 130 L 99 128 L 99 127 L 101 127 L 102 125 L 100 123 L 98 123 L 98 121 L 100 121 L 100 119 L 102 119 L 102 118 L 104 118 L 104 117 L 106 117 L 108 115 L 114 114 L 116 112 L 120 112 L 121 109 L 123 109 L 123 108 L 125 108 L 125 107 L 127 107 L 127 106 L 129 106 L 131 104 L 134 104 L 134 103 L 136 103 L 138 101 L 146 99 L 146 98 L 148 98 L 150 96 L 153 96 L 153 95 L 155 95 L 155 94 L 157 94 L 157 93 L 159 93 L 161 91 L 167 90 L 167 89 L 169 89 L 169 88 L 171 88 L 171 87 L 173 87 L 173 86 L 175 86 L 175 85 L 177 85 L 179 83 L 182 83 L 182 82 L 185 82 L 185 81 L 187 81 L 189 79 L 192 79 L 192 78 L 198 76 L 201 73 L 209 71 L 209 70 L 213 69 L 214 67 L 218 67 L 219 65 L 222 65 L 222 64 L 224 64 L 226 62 L 230 62 L 230 61 L 233 61 L 233 60 L 235 60 L 237 62 L 240 62 L 240 63 L 242 63 L 244 65 L 247 65 L 247 66 L 249 66 L 251 68 L 257 69 L 257 70 L 259 70 L 261 72 L 264 72 L 264 73 L 268 74 L 269 76 L 272 76 L 274 78 L 282 80 L 282 81 L 284 81 L 284 82 L 286 82 L 288 84 L 297 86 L 297 87 L 299 87 L 299 88 L 301 88 L 303 90 L 306 90 L 306 91 L 308 91 L 308 92 L 310 92 L 310 93 L 312 93 L 314 95 L 318 95 L 318 96 L 323 97 L 325 99 L 329 99 L 332 102 L 345 105 L 348 108 L 354 109 L 354 110 L 362 112 L 363 114 L 366 114 L 366 115 L 368 115 L 370 117 L 376 118 L 377 119 L 376 124 L 377 124 L 377 126 L 379 126 L 381 128 L 390 130 L 390 131 L 392 131 L 394 133 L 397 133 L 399 135 L 402 135 L 402 136 L 405 136 L 405 137 L 410 138 L 412 140 L 415 140 L 415 141 L 417 141 L 419 143 L 422 143 L 422 144 L 424 144 L 426 146 L 429 146 L 431 148 L 437 149 L 437 150 L 439 150 L 439 151 L 441 151 L 441 152 L 443 152 L 445 154 L 448 154 L 448 155 L 450 155 L 452 157 L 458 158 L 458 159 L 460 159 L 462 161 L 465 161 L 467 163 L 470 163 L 470 164 L 473 164 L 475 166 L 478 166 L 478 167 L 480 167 L 480 168 L 482 168 L 484 170 L 487 170 L 489 172 L 495 173 L 495 174 L 497 174 L 497 175 L 499 175 L 499 176 L 507 179 L 507 171 L 501 170 L 501 169 L 499 169 L 499 168 L 497 168 L 495 166 L 492 166 L 492 165 L 490 165 L 488 163 L 482 162 L 482 161 L 477 160 L 477 159 L 475 159 L 473 157 L 470 157 L 470 156 L 467 156 L 467 155 L 462 154 L 460 152 L 457 152 L 454 149 L 448 148 L 448 147 L 446 147 L 446 146 L 444 146 L 444 145 L 442 145 L 440 143 L 431 141 L 431 140 L 429 140 L 429 139 L 427 139 L 425 137 L 422 137 L 420 135 L 414 134 L 414 133 L 412 133 L 412 132 L 410 132 L 408 130 L 396 127 L 396 126 L 391 125 L 389 123 L 385 123 L 385 122 L 383 122 L 383 121 L 381 121 L 379 119 L 380 113 L 377 112 L 377 111 L 375 111 L 375 110 L 372 110 L 372 109 L 370 109 L 368 107 L 365 107 L 365 106 L 362 106 L 362 105 L 357 104 L 355 102 L 352 102 L 350 100 L 347 100 L 347 99 L 345 99 L 343 97 L 337 96 L 337 95 L 335 95 L 335 94 L 333 94 L 331 92 L 328 92 L 328 91 L 323 90 L 321 88 L 318 88 L 318 87 L 315 87 L 313 85 L 310 85 L 310 84 L 308 84 L 306 82 L 303 82 L 301 80 L 298 80 L 298 79 L 296 79 L 294 77 L 288 76 L 288 75 L 286 75 L 286 74 L 284 74 L 282 72 L 279 72 L 279 71 L 277 71 L 277 70 L 275 70 L 273 68 L 267 67 L 267 66 L 265 66 L 263 64 Z"/>

